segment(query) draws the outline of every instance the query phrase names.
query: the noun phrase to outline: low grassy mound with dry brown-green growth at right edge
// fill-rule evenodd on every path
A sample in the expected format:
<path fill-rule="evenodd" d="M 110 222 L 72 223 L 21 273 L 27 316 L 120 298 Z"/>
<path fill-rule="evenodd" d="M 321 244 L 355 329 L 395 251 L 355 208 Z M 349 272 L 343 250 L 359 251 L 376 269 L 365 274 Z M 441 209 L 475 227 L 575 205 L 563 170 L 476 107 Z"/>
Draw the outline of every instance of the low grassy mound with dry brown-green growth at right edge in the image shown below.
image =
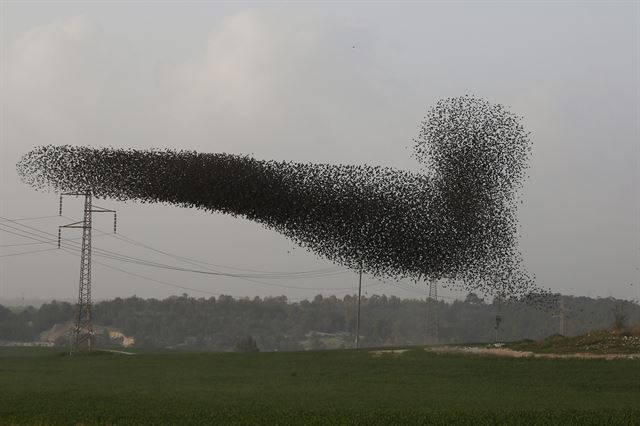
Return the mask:
<path fill-rule="evenodd" d="M 539 341 L 513 342 L 508 347 L 537 353 L 640 354 L 640 327 L 591 331 L 573 337 L 554 335 Z"/>

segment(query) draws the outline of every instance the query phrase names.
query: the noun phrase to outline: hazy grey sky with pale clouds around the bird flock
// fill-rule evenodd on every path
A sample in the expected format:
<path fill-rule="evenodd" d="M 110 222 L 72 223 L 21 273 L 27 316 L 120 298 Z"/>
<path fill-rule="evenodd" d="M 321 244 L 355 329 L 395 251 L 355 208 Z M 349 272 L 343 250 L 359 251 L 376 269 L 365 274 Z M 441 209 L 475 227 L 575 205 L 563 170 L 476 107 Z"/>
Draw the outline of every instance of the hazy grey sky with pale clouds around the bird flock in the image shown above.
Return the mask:
<path fill-rule="evenodd" d="M 56 217 L 57 194 L 20 182 L 15 164 L 36 146 L 418 171 L 410 153 L 420 121 L 439 99 L 465 94 L 504 105 L 531 133 L 518 215 L 520 250 L 538 285 L 640 298 L 638 2 L 3 0 L 0 65 L 0 299 L 77 297 L 79 252 L 56 250 L 55 240 L 59 225 L 81 219 L 82 203 L 65 198 L 66 217 Z M 357 271 L 250 221 L 96 204 L 117 210 L 121 238 L 109 235 L 108 214 L 96 214 L 94 249 L 198 270 L 205 265 L 193 260 L 227 272 L 322 271 L 256 282 L 94 255 L 96 300 L 357 291 Z M 34 217 L 43 218 L 23 220 Z M 366 275 L 363 286 L 366 295 L 420 298 L 427 288 Z"/>

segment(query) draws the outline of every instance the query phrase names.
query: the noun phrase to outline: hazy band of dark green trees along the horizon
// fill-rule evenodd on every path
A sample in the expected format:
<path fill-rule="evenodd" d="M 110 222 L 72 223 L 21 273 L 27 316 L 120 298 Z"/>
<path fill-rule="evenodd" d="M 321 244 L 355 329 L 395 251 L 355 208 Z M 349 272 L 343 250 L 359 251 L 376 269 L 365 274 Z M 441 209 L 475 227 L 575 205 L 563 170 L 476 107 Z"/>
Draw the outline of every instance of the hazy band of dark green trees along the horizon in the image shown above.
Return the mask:
<path fill-rule="evenodd" d="M 374 295 L 361 301 L 360 344 L 363 347 L 434 343 L 427 310 L 437 310 L 438 343 L 539 339 L 552 334 L 578 335 L 625 323 L 640 323 L 640 306 L 613 298 L 559 296 L 557 309 L 474 293 L 453 303 Z M 316 296 L 292 303 L 285 296 L 194 298 L 186 294 L 163 300 L 136 296 L 102 301 L 93 307 L 94 324 L 135 339 L 136 347 L 262 351 L 352 347 L 357 296 Z M 45 303 L 40 308 L 9 309 L 0 305 L 1 341 L 38 341 L 56 324 L 72 322 L 74 306 Z M 432 317 L 432 316 L 430 316 Z M 563 318 L 564 317 L 564 318 Z M 564 330 L 561 328 L 564 323 Z M 58 344 L 64 344 L 59 341 Z M 243 346 L 244 345 L 244 346 Z M 249 346 L 246 346 L 249 345 Z"/>

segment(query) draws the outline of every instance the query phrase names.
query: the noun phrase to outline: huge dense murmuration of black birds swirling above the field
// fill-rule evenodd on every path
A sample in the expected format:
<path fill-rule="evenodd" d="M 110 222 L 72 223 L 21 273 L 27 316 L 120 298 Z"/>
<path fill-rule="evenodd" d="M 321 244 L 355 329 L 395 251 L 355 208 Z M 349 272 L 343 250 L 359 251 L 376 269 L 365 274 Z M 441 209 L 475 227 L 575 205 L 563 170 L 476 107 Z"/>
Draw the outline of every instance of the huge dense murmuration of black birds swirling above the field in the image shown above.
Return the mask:
<path fill-rule="evenodd" d="M 521 120 L 472 96 L 439 101 L 419 127 L 422 173 L 224 153 L 42 146 L 17 169 L 40 190 L 161 202 L 244 217 L 379 278 L 444 280 L 548 302 L 522 265 L 516 206 L 531 142 Z"/>

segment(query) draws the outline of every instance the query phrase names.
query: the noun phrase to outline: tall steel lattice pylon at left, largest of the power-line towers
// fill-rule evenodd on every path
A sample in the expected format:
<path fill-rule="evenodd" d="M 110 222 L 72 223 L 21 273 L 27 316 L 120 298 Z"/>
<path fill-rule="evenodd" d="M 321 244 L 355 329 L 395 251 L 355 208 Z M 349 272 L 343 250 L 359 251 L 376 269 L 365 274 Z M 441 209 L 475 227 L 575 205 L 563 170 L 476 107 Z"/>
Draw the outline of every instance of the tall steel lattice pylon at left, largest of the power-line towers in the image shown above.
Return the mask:
<path fill-rule="evenodd" d="M 58 227 L 58 248 L 60 248 L 62 228 L 82 229 L 82 248 L 80 251 L 80 284 L 78 288 L 78 304 L 76 306 L 75 317 L 75 342 L 76 351 L 84 349 L 91 350 L 93 347 L 93 323 L 91 320 L 91 230 L 93 213 L 113 213 L 113 233 L 116 233 L 116 211 L 94 208 L 91 203 L 91 192 L 64 193 L 60 194 L 59 215 L 62 216 L 62 196 L 83 196 L 84 197 L 84 218 L 82 221 L 73 222 Z"/>

